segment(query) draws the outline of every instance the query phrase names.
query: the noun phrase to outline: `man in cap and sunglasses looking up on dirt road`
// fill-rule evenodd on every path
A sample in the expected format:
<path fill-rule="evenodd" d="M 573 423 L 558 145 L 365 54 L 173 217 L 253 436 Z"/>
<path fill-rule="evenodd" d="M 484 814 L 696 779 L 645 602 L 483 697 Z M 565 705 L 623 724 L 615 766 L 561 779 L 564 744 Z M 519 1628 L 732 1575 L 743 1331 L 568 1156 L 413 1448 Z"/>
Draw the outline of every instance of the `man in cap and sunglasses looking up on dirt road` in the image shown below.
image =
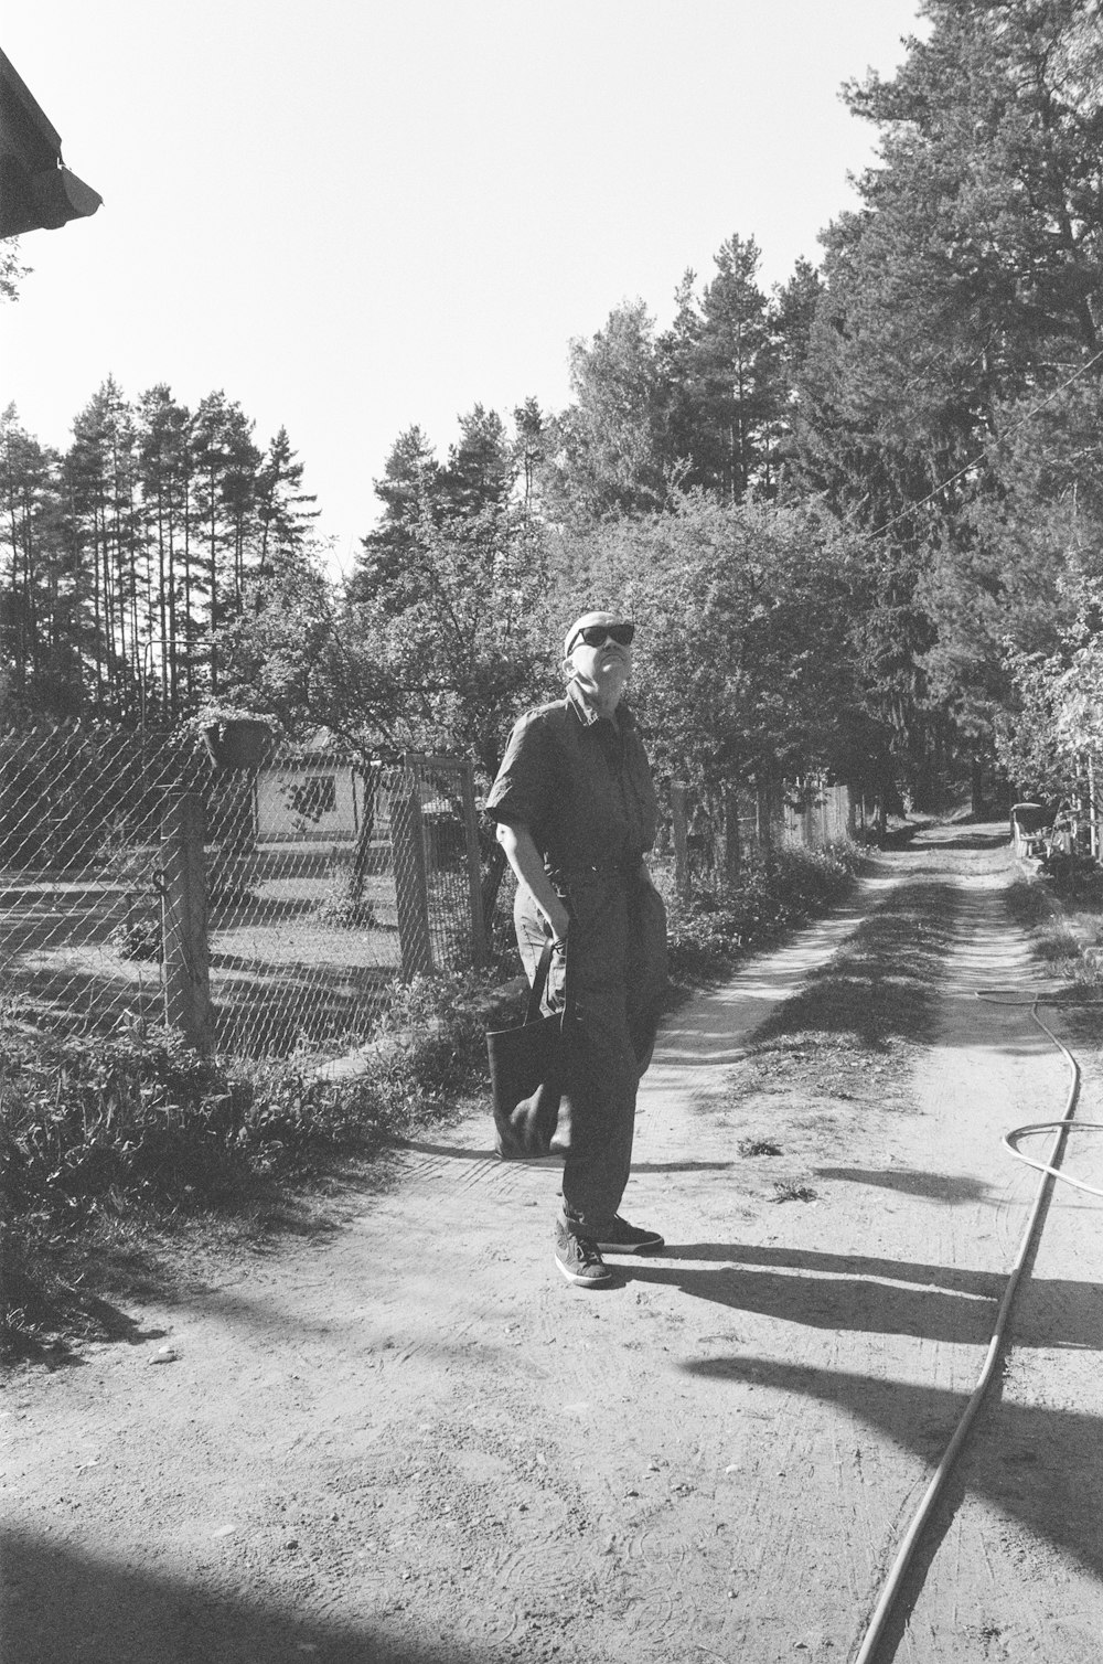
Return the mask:
<path fill-rule="evenodd" d="M 571 975 L 576 1040 L 564 1092 L 569 1143 L 556 1265 L 569 1283 L 611 1281 L 602 1253 L 662 1248 L 621 1218 L 636 1092 L 665 993 L 665 909 L 644 854 L 657 802 L 647 754 L 622 694 L 634 626 L 584 612 L 564 637 L 566 697 L 521 717 L 486 802 L 517 874 L 514 925 L 529 982 L 556 943 L 546 1008 Z"/>

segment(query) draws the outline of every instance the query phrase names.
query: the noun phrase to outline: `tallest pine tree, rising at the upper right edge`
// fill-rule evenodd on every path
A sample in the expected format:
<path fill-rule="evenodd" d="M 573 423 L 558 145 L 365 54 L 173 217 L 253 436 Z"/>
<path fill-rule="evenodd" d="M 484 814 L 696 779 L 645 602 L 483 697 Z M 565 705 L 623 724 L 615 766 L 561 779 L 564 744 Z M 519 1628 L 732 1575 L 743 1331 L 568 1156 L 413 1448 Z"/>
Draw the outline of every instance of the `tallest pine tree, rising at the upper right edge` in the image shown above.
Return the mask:
<path fill-rule="evenodd" d="M 960 714 L 937 641 L 947 574 L 970 571 L 967 511 L 998 489 L 1005 413 L 1090 361 L 1103 306 L 1098 3 L 923 12 L 930 37 L 898 73 L 847 88 L 882 165 L 825 235 L 795 418 L 804 484 L 872 534 L 868 671 L 912 757 L 928 750 L 923 707 Z"/>

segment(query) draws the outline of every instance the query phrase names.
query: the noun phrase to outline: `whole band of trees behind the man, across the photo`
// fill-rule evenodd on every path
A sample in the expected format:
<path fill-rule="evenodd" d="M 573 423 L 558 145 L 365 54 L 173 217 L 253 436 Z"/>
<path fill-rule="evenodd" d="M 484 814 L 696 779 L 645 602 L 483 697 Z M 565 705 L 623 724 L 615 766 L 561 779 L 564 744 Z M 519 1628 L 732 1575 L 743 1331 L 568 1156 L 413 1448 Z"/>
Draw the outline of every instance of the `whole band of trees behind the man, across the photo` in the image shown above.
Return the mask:
<path fill-rule="evenodd" d="M 569 343 L 571 401 L 406 428 L 341 584 L 284 428 L 106 378 L 65 453 L 0 424 L 10 709 L 253 702 L 491 772 L 579 606 L 632 609 L 667 770 L 833 770 L 922 800 L 1098 752 L 1103 3 L 925 0 L 822 261 L 749 228 L 660 324 Z M 7 271 L 15 273 L 8 260 Z M 1048 770 L 1048 772 L 1046 772 Z"/>

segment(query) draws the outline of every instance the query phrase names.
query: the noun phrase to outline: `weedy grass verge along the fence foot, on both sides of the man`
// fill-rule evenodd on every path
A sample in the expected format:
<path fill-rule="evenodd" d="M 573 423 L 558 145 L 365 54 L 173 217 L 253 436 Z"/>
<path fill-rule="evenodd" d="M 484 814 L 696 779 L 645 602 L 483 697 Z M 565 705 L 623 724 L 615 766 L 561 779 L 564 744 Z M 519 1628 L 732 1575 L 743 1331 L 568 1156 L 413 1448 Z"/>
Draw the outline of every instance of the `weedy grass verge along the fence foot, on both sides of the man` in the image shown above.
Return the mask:
<path fill-rule="evenodd" d="M 670 899 L 675 993 L 822 914 L 858 860 L 784 852 L 739 887 Z M 361 1190 L 379 1181 L 388 1145 L 486 1100 L 487 992 L 472 975 L 398 988 L 351 1080 L 319 1080 L 306 1058 L 203 1060 L 158 1030 L 50 1037 L 8 1013 L 0 1348 L 50 1358 L 121 1335 L 116 1301 L 171 1298 L 220 1246 L 329 1228 L 349 1171 Z"/>

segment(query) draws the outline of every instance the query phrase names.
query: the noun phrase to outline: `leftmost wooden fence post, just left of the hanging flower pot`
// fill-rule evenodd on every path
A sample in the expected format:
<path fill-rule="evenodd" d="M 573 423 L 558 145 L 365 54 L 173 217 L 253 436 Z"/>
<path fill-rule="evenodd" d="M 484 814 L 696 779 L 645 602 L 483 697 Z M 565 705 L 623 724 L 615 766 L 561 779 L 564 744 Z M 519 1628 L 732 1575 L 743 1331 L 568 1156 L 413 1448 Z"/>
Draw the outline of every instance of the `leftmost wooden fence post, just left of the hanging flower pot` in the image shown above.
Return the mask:
<path fill-rule="evenodd" d="M 206 948 L 203 799 L 198 792 L 165 794 L 161 874 L 165 1023 L 208 1057 L 215 1050 L 215 1025 Z"/>

